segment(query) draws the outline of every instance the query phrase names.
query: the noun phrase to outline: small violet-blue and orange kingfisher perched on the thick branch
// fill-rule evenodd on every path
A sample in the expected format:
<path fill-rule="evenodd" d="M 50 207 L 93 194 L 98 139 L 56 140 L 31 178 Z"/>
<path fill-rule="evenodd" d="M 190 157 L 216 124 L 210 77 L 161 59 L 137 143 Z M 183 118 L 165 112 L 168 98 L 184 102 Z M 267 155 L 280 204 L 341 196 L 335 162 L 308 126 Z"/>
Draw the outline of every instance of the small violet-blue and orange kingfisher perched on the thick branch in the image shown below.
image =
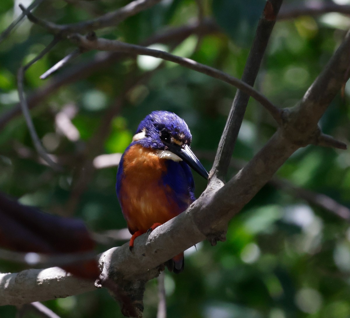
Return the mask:
<path fill-rule="evenodd" d="M 132 234 L 136 237 L 167 222 L 195 201 L 190 167 L 208 179 L 208 172 L 192 150 L 186 122 L 168 111 L 153 111 L 140 123 L 132 143 L 121 156 L 116 191 Z M 183 253 L 167 263 L 183 270 Z"/>

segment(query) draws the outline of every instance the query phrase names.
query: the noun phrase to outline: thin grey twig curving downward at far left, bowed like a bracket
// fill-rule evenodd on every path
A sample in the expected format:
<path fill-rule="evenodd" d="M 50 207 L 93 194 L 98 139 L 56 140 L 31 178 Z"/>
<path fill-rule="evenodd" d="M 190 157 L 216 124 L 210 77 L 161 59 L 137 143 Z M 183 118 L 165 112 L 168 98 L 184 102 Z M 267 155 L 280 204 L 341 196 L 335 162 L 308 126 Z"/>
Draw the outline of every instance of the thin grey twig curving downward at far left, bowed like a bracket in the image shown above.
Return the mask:
<path fill-rule="evenodd" d="M 28 104 L 23 88 L 23 80 L 24 80 L 24 74 L 25 71 L 33 65 L 36 61 L 38 61 L 40 58 L 42 58 L 52 47 L 55 46 L 55 44 L 59 41 L 58 37 L 55 37 L 52 42 L 45 47 L 38 56 L 36 56 L 32 61 L 30 61 L 28 64 L 25 66 L 21 66 L 18 70 L 17 73 L 17 85 L 18 85 L 18 94 L 20 98 L 20 106 L 23 112 L 23 116 L 25 117 L 30 137 L 33 140 L 33 144 L 37 150 L 37 152 L 40 154 L 40 156 L 48 163 L 48 165 L 53 168 L 56 171 L 62 171 L 62 167 L 60 167 L 58 164 L 56 164 L 52 159 L 49 157 L 47 152 L 44 150 L 44 147 L 42 146 L 40 139 L 35 131 L 35 127 L 33 124 L 33 120 L 30 117 L 29 109 L 28 109 Z"/>

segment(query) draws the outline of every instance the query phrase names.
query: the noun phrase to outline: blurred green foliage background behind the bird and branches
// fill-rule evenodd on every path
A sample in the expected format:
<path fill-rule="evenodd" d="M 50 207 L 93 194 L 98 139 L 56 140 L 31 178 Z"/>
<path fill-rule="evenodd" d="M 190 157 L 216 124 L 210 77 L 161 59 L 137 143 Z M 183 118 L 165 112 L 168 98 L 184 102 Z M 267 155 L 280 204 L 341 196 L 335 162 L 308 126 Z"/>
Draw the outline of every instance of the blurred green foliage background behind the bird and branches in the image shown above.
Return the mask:
<path fill-rule="evenodd" d="M 18 16 L 18 3 L 1 1 L 0 31 Z M 22 3 L 28 6 L 30 2 Z M 63 24 L 90 19 L 127 3 L 44 1 L 34 12 Z M 303 2 L 285 4 L 302 6 Z M 154 35 L 209 19 L 214 22 L 202 32 L 170 36 L 156 47 L 240 77 L 264 5 L 263 0 L 164 0 L 97 34 L 149 44 Z M 349 17 L 336 13 L 278 21 L 255 87 L 281 108 L 295 105 L 349 26 Z M 78 217 L 95 233 L 125 228 L 114 191 L 118 155 L 98 156 L 122 153 L 140 120 L 153 110 L 173 111 L 186 120 L 193 134 L 191 147 L 210 170 L 235 88 L 173 63 L 144 56 L 108 59 L 104 52 L 85 53 L 48 80 L 40 80 L 43 72 L 75 49 L 67 40 L 26 72 L 27 96 L 44 96 L 32 103 L 36 131 L 64 171 L 55 172 L 43 164 L 21 113 L 6 116 L 17 107 L 18 68 L 51 39 L 46 30 L 25 21 L 0 44 L 2 192 L 48 213 Z M 98 64 L 102 60 L 105 62 Z M 346 85 L 320 122 L 324 133 L 345 142 L 350 133 L 349 94 Z M 273 119 L 251 99 L 229 177 L 275 129 Z M 308 146 L 297 151 L 277 177 L 349 207 L 349 166 L 349 150 Z M 197 174 L 194 177 L 199 196 L 205 180 Z M 267 184 L 231 220 L 226 242 L 216 247 L 202 242 L 197 251 L 185 252 L 183 273 L 166 271 L 168 317 L 350 317 L 349 224 L 318 203 L 302 199 L 288 187 Z M 100 243 L 98 250 L 122 243 Z M 1 272 L 21 269 L 0 260 Z M 157 303 L 157 281 L 153 280 L 145 292 L 145 318 L 156 316 Z M 62 318 L 123 317 L 104 289 L 44 304 Z M 0 317 L 15 317 L 15 312 L 13 306 L 0 307 Z"/>

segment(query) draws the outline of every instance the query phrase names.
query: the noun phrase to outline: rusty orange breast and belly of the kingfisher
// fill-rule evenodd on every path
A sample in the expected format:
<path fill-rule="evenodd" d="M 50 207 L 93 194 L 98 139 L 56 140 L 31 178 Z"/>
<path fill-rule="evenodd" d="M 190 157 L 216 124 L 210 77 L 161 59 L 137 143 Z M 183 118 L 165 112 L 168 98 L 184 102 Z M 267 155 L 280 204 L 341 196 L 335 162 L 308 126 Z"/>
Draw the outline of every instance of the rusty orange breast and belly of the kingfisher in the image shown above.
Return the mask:
<path fill-rule="evenodd" d="M 165 160 L 141 145 L 124 154 L 119 199 L 131 233 L 146 232 L 154 223 L 165 223 L 182 212 L 172 188 L 162 180 Z"/>

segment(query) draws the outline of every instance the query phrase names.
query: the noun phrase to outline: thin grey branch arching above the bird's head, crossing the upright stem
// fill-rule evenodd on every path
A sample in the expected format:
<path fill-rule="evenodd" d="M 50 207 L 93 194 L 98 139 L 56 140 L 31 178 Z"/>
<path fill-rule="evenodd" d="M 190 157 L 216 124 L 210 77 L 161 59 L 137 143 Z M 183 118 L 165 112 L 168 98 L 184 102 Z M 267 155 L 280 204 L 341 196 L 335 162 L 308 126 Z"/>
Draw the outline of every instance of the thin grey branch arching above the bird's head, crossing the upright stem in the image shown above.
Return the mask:
<path fill-rule="evenodd" d="M 158 57 L 166 61 L 177 63 L 191 70 L 217 78 L 218 80 L 229 83 L 244 91 L 246 94 L 252 96 L 269 111 L 269 113 L 272 115 L 272 117 L 276 120 L 277 123 L 281 123 L 281 110 L 279 108 L 277 108 L 264 95 L 262 95 L 250 85 L 220 70 L 198 63 L 194 60 L 191 60 L 190 58 L 180 57 L 167 53 L 165 51 L 149 49 L 143 46 L 128 44 L 116 40 L 98 38 L 94 41 L 89 41 L 80 34 L 73 34 L 69 36 L 69 38 L 79 46 L 82 46 L 87 49 L 117 51 L 121 53 L 128 53 L 130 55 L 149 55 L 153 57 Z"/>

